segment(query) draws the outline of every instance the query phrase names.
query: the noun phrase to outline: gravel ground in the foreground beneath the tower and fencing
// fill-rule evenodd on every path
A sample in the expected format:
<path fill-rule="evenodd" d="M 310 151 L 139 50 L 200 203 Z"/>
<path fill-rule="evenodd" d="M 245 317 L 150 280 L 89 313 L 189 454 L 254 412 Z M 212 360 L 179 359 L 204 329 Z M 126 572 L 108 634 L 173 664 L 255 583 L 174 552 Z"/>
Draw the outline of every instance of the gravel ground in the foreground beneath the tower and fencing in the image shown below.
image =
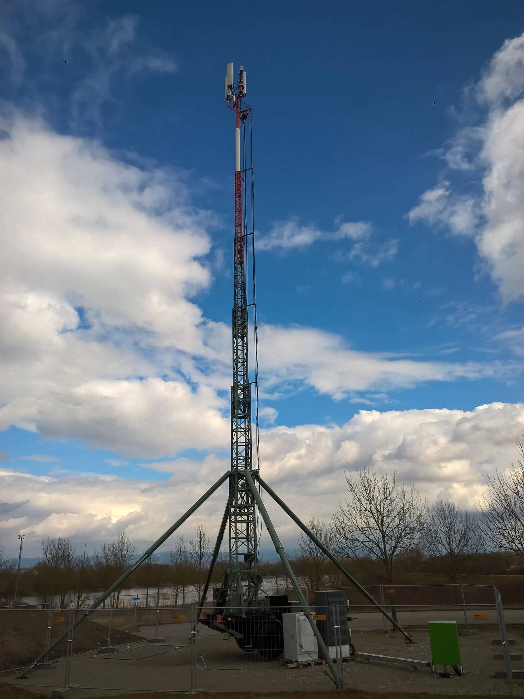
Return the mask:
<path fill-rule="evenodd" d="M 173 649 L 156 656 L 140 660 L 117 660 L 116 658 L 97 658 L 94 654 L 84 654 L 73 658 L 71 682 L 80 684 L 72 689 L 71 699 L 94 697 L 129 696 L 129 699 L 159 699 L 158 693 L 148 691 L 189 691 L 191 687 L 191 647 L 184 624 L 180 625 L 177 636 L 166 637 L 167 644 Z M 166 629 L 167 630 L 167 629 Z M 188 628 L 189 630 L 189 628 Z M 518 629 L 520 632 L 520 629 Z M 407 644 L 398 634 L 384 635 L 378 632 L 354 633 L 354 645 L 357 651 L 375 654 L 430 660 L 429 636 L 426 631 L 412 632 L 416 644 Z M 163 634 L 162 634 L 163 635 Z M 496 637 L 493 630 L 479 630 L 474 636 L 461 636 L 465 677 L 440 679 L 433 677 L 430 668 L 412 668 L 385 663 L 350 660 L 344 663 L 344 683 L 346 693 L 364 698 L 365 695 L 407 693 L 414 698 L 428 695 L 449 696 L 505 696 L 508 693 L 504 679 L 495 679 L 495 669 L 504 669 L 502 661 L 495 661 L 495 651 L 500 646 L 491 644 Z M 519 633 L 509 632 L 509 637 L 516 640 L 512 652 L 524 651 L 524 642 Z M 145 644 L 145 641 L 142 642 Z M 178 644 L 179 647 L 175 647 Z M 182 646 L 182 647 L 181 647 Z M 264 662 L 258 654 L 240 651 L 232 639 L 223 640 L 221 635 L 205 629 L 199 634 L 197 644 L 198 665 L 196 686 L 206 692 L 231 692 L 235 696 L 248 696 L 250 693 L 271 693 L 278 696 L 285 693 L 299 692 L 300 696 L 322 694 L 327 699 L 333 693 L 333 682 L 328 677 L 325 665 L 304 668 L 287 668 L 280 661 Z M 515 661 L 514 670 L 523 670 L 524 663 Z M 36 670 L 28 680 L 17 681 L 15 675 L 3 678 L 27 691 L 43 693 L 49 697 L 53 689 L 63 684 L 64 663 L 58 663 L 55 670 Z M 81 689 L 85 688 L 85 689 Z M 114 691 L 110 691 L 112 688 Z M 129 690 L 141 693 L 129 693 Z M 514 694 L 524 694 L 524 682 L 514 681 Z M 173 695 L 171 695 L 173 696 Z M 250 695 L 254 696 L 254 694 Z M 268 696 L 266 694 L 266 696 Z M 340 694 L 337 694 L 340 696 Z M 0 699 L 3 696 L 0 692 Z"/>

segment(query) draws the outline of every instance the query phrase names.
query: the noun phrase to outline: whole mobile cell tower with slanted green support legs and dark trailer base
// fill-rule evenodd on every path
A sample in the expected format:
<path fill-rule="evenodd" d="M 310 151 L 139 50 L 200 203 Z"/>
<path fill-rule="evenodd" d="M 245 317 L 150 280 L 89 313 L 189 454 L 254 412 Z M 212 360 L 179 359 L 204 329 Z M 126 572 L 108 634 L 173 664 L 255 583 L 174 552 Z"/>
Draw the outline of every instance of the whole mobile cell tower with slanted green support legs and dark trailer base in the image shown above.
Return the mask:
<path fill-rule="evenodd" d="M 412 638 L 399 626 L 386 610 L 377 603 L 370 593 L 347 571 L 342 563 L 326 549 L 321 541 L 305 526 L 296 514 L 283 502 L 270 486 L 263 481 L 259 473 L 259 431 L 256 420 L 256 452 L 253 454 L 252 439 L 252 385 L 256 389 L 256 414 L 258 417 L 258 347 L 256 340 L 256 298 L 254 284 L 254 217 L 253 217 L 253 180 L 252 180 L 252 109 L 245 103 L 246 72 L 240 66 L 238 82 L 233 79 L 233 64 L 228 64 L 225 80 L 226 103 L 235 115 L 235 235 L 233 238 L 234 264 L 234 301 L 233 301 L 233 385 L 231 387 L 231 470 L 226 471 L 216 483 L 189 507 L 182 517 L 168 531 L 164 532 L 140 558 L 126 570 L 105 592 L 83 611 L 73 624 L 81 624 L 89 614 L 99 607 L 122 583 L 146 561 L 184 522 L 203 505 L 212 494 L 228 482 L 228 497 L 224 516 L 222 517 L 217 540 L 212 552 L 208 577 L 198 602 L 198 613 L 194 633 L 198 624 L 203 624 L 217 631 L 227 631 L 238 646 L 249 652 L 258 651 L 263 658 L 277 658 L 284 649 L 282 614 L 291 610 L 302 611 L 310 623 L 319 646 L 319 654 L 326 659 L 338 689 L 342 689 L 340 675 L 330 658 L 326 644 L 312 616 L 308 601 L 293 573 L 284 552 L 275 527 L 268 515 L 261 498 L 261 488 L 289 515 L 300 529 L 312 540 L 323 554 L 330 559 L 340 572 L 361 591 L 367 600 L 384 614 L 392 626 L 405 636 L 409 642 Z M 250 201 L 249 201 L 250 194 Z M 247 211 L 251 214 L 250 230 L 247 231 Z M 247 303 L 247 257 L 248 239 L 251 240 L 252 289 L 253 298 Z M 255 378 L 249 379 L 248 359 L 248 308 L 253 309 Z M 254 463 L 255 456 L 255 463 Z M 296 600 L 288 600 L 286 595 L 265 596 L 261 593 L 263 576 L 258 570 L 259 519 L 263 520 L 275 550 L 279 555 Z M 229 563 L 221 586 L 212 603 L 208 603 L 208 590 L 221 549 L 226 527 L 229 526 Z M 57 645 L 70 633 L 64 631 L 50 644 L 30 665 L 22 671 L 20 679 L 26 678 L 43 658 L 48 656 Z"/>

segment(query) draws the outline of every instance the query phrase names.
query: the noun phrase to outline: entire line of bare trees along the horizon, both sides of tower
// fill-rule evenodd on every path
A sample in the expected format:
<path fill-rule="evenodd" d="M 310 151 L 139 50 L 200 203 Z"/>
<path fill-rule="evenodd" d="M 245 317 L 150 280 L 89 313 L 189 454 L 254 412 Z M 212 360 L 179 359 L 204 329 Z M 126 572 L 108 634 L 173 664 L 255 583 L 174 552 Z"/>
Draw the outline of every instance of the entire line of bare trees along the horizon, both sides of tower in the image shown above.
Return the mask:
<path fill-rule="evenodd" d="M 460 575 L 474 572 L 515 572 L 524 564 L 524 440 L 517 441 L 517 465 L 507 473 L 488 478 L 488 493 L 476 512 L 462 510 L 452 500 L 437 500 L 431 506 L 414 486 L 400 484 L 395 471 L 377 475 L 364 469 L 345 475 L 347 496 L 330 522 L 310 518 L 309 527 L 326 548 L 344 559 L 367 582 L 393 584 L 412 572 L 428 572 L 457 582 Z M 186 542 L 179 535 L 169 552 L 169 563 L 152 556 L 126 581 L 126 587 L 145 589 L 145 603 L 158 604 L 161 591 L 173 602 L 185 603 L 191 589 L 200 598 L 210 564 L 211 542 L 204 526 Z M 120 533 L 104 543 L 92 556 L 78 552 L 65 538 L 42 542 L 41 558 L 20 575 L 18 597 L 34 595 L 42 603 L 51 599 L 60 605 L 66 598 L 82 606 L 88 593 L 107 589 L 136 558 L 136 547 Z M 228 554 L 222 553 L 214 569 L 212 584 L 221 582 Z M 310 589 L 341 586 L 340 573 L 321 549 L 304 534 L 298 556 L 292 562 L 303 585 Z M 280 563 L 259 566 L 268 587 L 291 591 L 291 583 Z M 15 562 L 0 547 L 0 604 L 12 604 Z M 115 592 L 118 602 L 121 590 Z M 192 600 L 191 600 L 192 601 Z"/>

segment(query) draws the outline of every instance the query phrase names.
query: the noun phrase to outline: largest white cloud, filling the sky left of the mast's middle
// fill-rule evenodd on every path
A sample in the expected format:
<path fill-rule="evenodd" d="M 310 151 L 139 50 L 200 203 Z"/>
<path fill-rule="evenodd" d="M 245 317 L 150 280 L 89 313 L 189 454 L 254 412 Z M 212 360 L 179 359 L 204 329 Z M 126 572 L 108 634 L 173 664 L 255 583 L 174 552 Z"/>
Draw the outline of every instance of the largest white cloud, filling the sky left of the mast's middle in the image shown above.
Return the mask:
<path fill-rule="evenodd" d="M 226 445 L 221 379 L 196 361 L 223 352 L 190 300 L 210 283 L 203 212 L 97 143 L 17 114 L 3 128 L 1 428 L 123 456 Z"/>

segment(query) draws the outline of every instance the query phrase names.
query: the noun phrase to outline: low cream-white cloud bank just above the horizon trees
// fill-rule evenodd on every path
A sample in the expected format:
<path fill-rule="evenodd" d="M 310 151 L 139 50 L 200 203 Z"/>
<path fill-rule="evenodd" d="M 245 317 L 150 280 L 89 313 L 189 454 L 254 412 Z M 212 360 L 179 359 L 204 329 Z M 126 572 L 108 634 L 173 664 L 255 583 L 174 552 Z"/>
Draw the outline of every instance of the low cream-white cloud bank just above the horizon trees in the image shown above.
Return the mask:
<path fill-rule="evenodd" d="M 396 469 L 430 500 L 450 497 L 474 507 L 486 475 L 504 471 L 516 458 L 515 441 L 524 433 L 524 405 L 492 403 L 472 411 L 361 411 L 342 426 L 278 426 L 261 431 L 261 475 L 307 519 L 328 519 L 344 496 L 344 471 Z M 64 464 L 64 467 L 66 464 Z M 38 554 L 42 538 L 64 535 L 95 547 L 124 529 L 145 547 L 155 540 L 228 468 L 226 459 L 174 459 L 150 463 L 171 473 L 163 482 L 98 474 L 34 476 L 1 468 L 5 501 L 1 539 L 22 531 L 27 551 Z M 226 490 L 184 527 L 196 523 L 217 531 Z M 294 548 L 296 529 L 266 498 L 283 540 Z M 268 545 L 268 542 L 265 542 Z M 169 544 L 166 545 L 169 547 Z"/>

